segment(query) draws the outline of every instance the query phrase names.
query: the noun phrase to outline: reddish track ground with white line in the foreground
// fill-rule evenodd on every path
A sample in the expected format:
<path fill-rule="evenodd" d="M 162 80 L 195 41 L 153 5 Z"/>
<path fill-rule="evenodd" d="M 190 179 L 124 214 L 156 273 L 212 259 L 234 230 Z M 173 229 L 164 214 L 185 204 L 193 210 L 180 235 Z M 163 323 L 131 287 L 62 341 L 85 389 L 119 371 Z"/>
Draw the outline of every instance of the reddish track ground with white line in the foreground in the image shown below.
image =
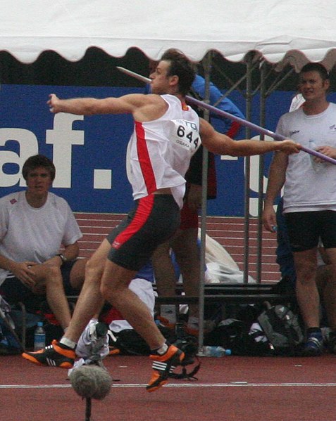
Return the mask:
<path fill-rule="evenodd" d="M 104 401 L 92 401 L 93 421 L 332 421 L 336 420 L 336 356 L 202 358 L 198 380 L 173 380 L 149 394 L 147 357 L 105 359 L 113 379 Z M 67 370 L 0 356 L 1 421 L 85 420 L 85 401 Z"/>

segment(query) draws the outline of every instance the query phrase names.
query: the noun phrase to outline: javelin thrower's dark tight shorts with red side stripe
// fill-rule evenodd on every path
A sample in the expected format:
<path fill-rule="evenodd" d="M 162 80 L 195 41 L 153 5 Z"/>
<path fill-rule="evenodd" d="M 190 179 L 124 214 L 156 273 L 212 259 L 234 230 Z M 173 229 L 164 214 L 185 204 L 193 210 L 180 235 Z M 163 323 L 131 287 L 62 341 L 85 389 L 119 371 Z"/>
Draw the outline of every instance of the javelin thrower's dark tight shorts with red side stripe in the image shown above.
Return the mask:
<path fill-rule="evenodd" d="M 139 271 L 156 247 L 170 238 L 180 226 L 180 209 L 172 195 L 149 195 L 135 200 L 135 207 L 108 235 L 108 259 Z"/>

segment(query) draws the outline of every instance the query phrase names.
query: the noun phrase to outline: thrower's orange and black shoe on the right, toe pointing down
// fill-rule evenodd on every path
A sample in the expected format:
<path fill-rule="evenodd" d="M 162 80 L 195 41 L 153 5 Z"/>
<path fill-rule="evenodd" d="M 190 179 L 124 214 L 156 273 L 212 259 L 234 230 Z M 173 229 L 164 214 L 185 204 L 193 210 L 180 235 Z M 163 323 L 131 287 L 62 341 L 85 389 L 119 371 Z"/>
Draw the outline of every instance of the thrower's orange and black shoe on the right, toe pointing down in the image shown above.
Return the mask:
<path fill-rule="evenodd" d="M 176 346 L 170 345 L 165 354 L 151 354 L 149 358 L 153 361 L 151 365 L 153 373 L 146 389 L 147 391 L 156 391 L 156 389 L 168 382 L 170 373 L 172 373 L 178 365 L 182 364 L 185 353 Z"/>

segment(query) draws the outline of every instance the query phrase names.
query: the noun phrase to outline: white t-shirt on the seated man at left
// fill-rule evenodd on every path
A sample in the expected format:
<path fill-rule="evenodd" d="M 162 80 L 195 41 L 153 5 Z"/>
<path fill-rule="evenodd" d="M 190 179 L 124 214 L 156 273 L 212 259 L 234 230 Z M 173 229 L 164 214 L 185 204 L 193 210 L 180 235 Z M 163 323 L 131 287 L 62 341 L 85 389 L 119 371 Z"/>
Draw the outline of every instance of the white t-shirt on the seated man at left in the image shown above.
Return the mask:
<path fill-rule="evenodd" d="M 68 202 L 48 193 L 46 203 L 31 207 L 25 191 L 0 199 L 0 254 L 13 261 L 43 263 L 54 257 L 61 245 L 71 245 L 82 238 Z M 8 271 L 0 268 L 0 285 Z"/>

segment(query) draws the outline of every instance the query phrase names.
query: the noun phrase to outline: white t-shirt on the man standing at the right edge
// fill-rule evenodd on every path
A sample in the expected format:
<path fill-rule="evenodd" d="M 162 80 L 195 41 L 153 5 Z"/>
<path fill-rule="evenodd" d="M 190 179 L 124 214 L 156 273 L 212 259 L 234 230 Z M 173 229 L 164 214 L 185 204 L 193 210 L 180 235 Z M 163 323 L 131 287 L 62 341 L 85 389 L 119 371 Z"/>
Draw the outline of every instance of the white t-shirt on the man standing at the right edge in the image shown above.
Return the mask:
<path fill-rule="evenodd" d="M 322 145 L 336 148 L 336 104 L 330 103 L 327 110 L 318 115 L 306 115 L 301 108 L 287 112 L 279 120 L 277 133 L 309 149 Z M 336 210 L 336 165 L 313 164 L 312 157 L 304 151 L 289 155 L 284 212 Z"/>

